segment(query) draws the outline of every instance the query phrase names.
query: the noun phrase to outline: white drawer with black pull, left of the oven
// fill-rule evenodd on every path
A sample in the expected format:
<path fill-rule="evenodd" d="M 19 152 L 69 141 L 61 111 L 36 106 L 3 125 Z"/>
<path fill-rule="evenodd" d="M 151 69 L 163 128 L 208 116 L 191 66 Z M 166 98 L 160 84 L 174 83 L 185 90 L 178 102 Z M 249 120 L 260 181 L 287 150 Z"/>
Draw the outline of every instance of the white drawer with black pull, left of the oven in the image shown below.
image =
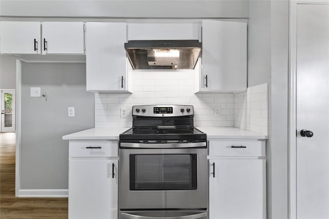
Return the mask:
<path fill-rule="evenodd" d="M 69 157 L 118 156 L 117 141 L 70 141 Z"/>

